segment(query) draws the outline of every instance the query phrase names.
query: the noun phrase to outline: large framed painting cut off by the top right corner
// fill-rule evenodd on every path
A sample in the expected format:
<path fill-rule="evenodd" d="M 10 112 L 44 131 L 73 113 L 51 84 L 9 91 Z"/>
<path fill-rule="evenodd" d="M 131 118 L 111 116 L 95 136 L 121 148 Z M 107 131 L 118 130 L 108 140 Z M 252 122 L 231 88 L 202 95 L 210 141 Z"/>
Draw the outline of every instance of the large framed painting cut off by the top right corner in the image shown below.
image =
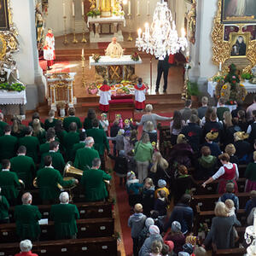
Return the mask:
<path fill-rule="evenodd" d="M 255 0 L 222 0 L 223 23 L 256 23 Z"/>

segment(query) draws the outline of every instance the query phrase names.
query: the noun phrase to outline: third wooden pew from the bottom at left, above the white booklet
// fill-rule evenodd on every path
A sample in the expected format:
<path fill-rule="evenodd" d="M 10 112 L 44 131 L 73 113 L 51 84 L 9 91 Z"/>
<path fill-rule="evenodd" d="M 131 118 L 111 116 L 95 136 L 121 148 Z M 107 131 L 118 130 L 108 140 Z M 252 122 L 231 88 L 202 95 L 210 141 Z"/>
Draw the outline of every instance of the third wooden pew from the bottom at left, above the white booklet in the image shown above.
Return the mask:
<path fill-rule="evenodd" d="M 75 204 L 80 213 L 80 219 L 83 218 L 112 218 L 112 206 L 110 202 L 96 201 Z M 42 213 L 42 218 L 49 218 L 50 205 L 39 205 L 38 209 Z M 15 207 L 9 208 L 10 222 L 15 222 Z"/>

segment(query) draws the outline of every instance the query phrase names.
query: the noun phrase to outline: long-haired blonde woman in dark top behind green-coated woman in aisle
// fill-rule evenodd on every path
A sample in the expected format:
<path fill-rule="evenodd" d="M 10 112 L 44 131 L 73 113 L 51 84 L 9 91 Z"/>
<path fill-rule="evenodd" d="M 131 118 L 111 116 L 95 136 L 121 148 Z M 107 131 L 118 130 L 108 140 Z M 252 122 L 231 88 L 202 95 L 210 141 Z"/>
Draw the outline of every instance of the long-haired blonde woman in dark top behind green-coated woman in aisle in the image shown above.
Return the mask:
<path fill-rule="evenodd" d="M 154 152 L 152 156 L 152 166 L 148 173 L 148 177 L 151 177 L 154 184 L 157 184 L 159 179 L 166 179 L 166 169 L 169 167 L 168 162 L 162 157 L 159 151 Z"/>

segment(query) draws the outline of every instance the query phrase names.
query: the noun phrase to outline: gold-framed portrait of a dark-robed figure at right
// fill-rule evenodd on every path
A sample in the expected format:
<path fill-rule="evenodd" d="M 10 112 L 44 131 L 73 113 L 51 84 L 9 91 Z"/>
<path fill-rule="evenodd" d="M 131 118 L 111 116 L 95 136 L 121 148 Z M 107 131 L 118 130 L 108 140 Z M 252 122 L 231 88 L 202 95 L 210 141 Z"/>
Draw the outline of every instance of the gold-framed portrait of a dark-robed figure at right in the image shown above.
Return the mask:
<path fill-rule="evenodd" d="M 246 58 L 250 33 L 230 33 L 230 58 Z"/>

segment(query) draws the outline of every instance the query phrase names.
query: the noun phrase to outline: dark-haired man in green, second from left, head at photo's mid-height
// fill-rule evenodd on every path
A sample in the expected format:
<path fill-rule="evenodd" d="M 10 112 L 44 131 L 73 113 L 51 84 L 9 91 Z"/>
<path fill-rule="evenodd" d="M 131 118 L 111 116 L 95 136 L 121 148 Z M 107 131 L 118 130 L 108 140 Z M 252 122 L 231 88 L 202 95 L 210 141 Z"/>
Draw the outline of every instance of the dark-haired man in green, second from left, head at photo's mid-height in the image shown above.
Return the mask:
<path fill-rule="evenodd" d="M 26 147 L 26 155 L 32 157 L 35 164 L 38 164 L 39 146 L 38 137 L 32 136 L 32 127 L 27 126 L 24 129 L 25 137 L 19 140 L 19 146 Z"/>

